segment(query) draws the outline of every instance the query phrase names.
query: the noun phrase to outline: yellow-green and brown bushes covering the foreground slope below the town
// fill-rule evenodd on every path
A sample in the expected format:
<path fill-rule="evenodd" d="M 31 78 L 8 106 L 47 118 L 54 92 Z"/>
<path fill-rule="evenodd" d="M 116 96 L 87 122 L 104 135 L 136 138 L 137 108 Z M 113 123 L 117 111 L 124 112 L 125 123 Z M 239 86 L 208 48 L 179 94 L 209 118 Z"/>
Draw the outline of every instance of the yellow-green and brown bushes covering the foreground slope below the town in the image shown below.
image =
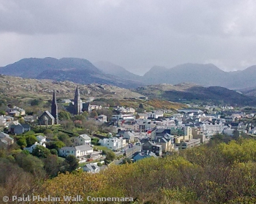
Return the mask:
<path fill-rule="evenodd" d="M 59 174 L 31 188 L 41 197 L 80 194 L 83 203 L 89 195 L 133 197 L 134 203 L 256 203 L 255 146 L 249 139 L 210 143 L 162 159 L 110 165 L 99 174 Z"/>

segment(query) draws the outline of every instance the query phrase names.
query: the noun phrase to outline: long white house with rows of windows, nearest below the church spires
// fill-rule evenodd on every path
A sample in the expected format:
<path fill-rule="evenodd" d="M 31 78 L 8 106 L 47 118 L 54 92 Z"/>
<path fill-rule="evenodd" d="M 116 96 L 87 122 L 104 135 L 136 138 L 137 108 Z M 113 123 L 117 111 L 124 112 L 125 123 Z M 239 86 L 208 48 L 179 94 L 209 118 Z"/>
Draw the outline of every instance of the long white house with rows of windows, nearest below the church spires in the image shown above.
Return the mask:
<path fill-rule="evenodd" d="M 75 147 L 63 147 L 59 149 L 59 156 L 74 155 L 75 157 L 82 157 L 90 155 L 94 152 L 94 149 L 89 145 L 75 146 Z"/>

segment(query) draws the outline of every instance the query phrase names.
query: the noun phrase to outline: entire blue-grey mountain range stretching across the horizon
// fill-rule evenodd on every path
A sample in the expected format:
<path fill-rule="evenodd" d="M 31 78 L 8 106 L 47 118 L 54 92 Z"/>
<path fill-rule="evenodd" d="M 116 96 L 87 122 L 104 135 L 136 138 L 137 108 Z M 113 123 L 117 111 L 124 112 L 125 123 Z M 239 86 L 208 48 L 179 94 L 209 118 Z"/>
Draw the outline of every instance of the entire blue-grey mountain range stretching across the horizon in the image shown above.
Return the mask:
<path fill-rule="evenodd" d="M 70 80 L 75 83 L 99 83 L 136 88 L 150 84 L 196 83 L 200 86 L 222 86 L 231 89 L 256 87 L 256 66 L 243 71 L 225 72 L 214 64 L 181 64 L 167 69 L 152 67 L 145 75 L 135 75 L 107 61 L 91 64 L 83 58 L 23 58 L 0 67 L 0 74 L 22 78 Z"/>

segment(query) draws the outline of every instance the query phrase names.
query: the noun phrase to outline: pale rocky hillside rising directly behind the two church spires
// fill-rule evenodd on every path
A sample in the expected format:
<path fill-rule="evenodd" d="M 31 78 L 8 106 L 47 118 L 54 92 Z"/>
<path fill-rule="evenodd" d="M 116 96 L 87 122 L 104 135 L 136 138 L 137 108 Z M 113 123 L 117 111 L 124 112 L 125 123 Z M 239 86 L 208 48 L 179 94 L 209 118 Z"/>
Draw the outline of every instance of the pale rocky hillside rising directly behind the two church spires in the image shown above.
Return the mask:
<path fill-rule="evenodd" d="M 59 98 L 72 99 L 76 86 L 79 87 L 81 98 L 84 99 L 89 99 L 89 97 L 123 99 L 142 96 L 141 94 L 129 91 L 125 88 L 99 85 L 97 83 L 81 85 L 71 81 L 60 82 L 56 80 L 37 80 L 0 75 L 0 97 L 17 99 L 41 97 L 50 99 L 53 94 L 53 89 L 55 89 Z"/>

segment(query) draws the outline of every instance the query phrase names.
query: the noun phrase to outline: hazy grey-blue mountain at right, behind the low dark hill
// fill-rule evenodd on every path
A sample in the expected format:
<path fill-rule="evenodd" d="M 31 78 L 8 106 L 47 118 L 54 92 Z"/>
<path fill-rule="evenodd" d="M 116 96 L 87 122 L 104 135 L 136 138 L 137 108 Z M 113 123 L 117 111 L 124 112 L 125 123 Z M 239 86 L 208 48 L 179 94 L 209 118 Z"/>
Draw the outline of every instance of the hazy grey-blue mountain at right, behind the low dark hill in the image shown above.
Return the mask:
<path fill-rule="evenodd" d="M 224 72 L 214 64 L 181 64 L 167 69 L 152 67 L 143 76 L 144 82 L 197 83 L 201 86 L 222 86 L 226 88 L 246 88 L 256 86 L 256 66 L 243 71 Z"/>

